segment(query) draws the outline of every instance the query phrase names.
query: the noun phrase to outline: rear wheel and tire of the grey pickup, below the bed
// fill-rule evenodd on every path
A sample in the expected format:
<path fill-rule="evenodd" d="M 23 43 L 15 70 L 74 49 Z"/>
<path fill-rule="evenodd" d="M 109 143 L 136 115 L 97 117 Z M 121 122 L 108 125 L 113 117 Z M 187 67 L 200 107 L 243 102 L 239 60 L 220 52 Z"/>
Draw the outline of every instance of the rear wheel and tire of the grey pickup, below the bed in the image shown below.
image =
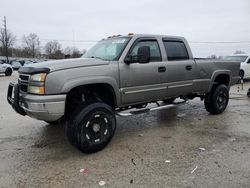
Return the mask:
<path fill-rule="evenodd" d="M 228 87 L 224 84 L 218 85 L 206 95 L 205 108 L 210 114 L 220 114 L 226 109 L 228 100 Z"/>

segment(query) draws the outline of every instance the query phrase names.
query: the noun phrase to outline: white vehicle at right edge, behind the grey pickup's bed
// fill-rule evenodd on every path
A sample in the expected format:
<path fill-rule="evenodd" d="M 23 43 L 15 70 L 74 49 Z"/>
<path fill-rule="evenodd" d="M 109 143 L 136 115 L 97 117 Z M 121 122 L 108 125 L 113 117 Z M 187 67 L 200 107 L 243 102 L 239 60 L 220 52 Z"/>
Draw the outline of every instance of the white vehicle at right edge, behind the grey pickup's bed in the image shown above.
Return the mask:
<path fill-rule="evenodd" d="M 226 59 L 239 61 L 240 64 L 240 77 L 241 79 L 250 78 L 250 55 L 249 54 L 237 54 L 227 56 Z"/>

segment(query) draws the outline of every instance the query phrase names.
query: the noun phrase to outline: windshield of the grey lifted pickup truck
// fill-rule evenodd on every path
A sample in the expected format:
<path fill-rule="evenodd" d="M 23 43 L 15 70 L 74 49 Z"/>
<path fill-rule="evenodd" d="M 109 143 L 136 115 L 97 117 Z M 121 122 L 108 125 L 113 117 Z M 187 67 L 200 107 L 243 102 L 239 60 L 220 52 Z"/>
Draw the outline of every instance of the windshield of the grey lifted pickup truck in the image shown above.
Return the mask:
<path fill-rule="evenodd" d="M 129 40 L 129 37 L 101 40 L 82 57 L 98 58 L 106 61 L 118 60 Z"/>

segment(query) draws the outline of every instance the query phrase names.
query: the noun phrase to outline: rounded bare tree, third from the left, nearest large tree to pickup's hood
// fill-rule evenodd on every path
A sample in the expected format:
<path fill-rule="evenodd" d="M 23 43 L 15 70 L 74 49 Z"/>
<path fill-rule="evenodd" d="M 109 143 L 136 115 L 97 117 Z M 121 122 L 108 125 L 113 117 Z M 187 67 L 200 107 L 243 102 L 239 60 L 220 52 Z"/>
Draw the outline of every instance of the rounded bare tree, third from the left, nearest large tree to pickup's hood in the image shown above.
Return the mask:
<path fill-rule="evenodd" d="M 49 59 L 62 59 L 64 55 L 62 53 L 62 45 L 56 41 L 49 41 L 44 47 L 47 58 Z"/>

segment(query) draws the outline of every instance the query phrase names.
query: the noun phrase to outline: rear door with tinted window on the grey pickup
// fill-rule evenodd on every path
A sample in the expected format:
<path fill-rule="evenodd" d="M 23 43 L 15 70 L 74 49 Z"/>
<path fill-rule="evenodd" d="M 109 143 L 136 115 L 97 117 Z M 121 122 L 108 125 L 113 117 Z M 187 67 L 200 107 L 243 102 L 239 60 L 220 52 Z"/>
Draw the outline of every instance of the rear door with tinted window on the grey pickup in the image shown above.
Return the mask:
<path fill-rule="evenodd" d="M 185 43 L 180 39 L 163 39 L 167 55 L 167 96 L 186 95 L 193 91 L 195 61 L 189 57 Z"/>

